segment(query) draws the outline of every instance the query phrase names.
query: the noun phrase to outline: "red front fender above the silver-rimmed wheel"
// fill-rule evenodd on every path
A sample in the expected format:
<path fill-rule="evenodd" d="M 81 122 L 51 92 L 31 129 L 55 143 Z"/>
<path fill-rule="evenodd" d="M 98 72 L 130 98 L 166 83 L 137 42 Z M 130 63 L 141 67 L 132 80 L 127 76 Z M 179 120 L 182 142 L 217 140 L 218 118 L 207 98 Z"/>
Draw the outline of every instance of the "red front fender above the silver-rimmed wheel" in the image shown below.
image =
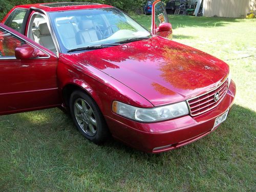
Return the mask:
<path fill-rule="evenodd" d="M 86 91 L 98 104 L 103 115 L 112 116 L 114 100 L 140 108 L 152 108 L 153 104 L 108 74 L 74 59 L 72 55 L 60 55 L 57 69 L 60 94 L 67 86 L 77 86 Z M 63 97 L 62 97 L 63 98 Z"/>

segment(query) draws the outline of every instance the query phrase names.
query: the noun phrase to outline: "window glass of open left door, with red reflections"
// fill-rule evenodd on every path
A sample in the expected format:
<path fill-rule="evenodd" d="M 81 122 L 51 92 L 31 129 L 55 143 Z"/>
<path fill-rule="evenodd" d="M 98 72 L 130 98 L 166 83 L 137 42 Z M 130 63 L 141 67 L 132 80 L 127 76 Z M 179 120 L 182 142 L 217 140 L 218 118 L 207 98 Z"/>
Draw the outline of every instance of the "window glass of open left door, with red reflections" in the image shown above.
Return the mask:
<path fill-rule="evenodd" d="M 24 44 L 24 40 L 0 28 L 0 59 L 15 57 L 15 48 Z"/>

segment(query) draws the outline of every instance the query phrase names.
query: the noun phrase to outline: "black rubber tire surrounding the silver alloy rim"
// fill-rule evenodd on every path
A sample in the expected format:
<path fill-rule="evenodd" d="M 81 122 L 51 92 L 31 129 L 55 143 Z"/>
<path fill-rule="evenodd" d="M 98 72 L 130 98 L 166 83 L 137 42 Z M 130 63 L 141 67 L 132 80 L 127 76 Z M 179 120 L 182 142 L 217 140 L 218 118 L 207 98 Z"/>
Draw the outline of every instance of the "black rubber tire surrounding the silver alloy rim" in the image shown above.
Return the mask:
<path fill-rule="evenodd" d="M 79 121 L 82 121 L 82 122 L 84 122 L 84 121 L 78 120 L 77 115 L 75 115 L 75 114 L 77 114 L 77 108 L 75 108 L 75 103 L 79 102 L 80 100 L 86 101 L 86 104 L 88 104 L 88 106 L 90 106 L 90 108 L 93 111 L 92 115 L 95 118 L 94 120 L 96 120 L 96 123 L 97 123 L 97 125 L 95 126 L 96 133 L 94 133 L 94 135 L 87 133 L 86 129 L 82 129 L 82 127 L 84 127 L 84 126 L 81 126 L 81 122 L 79 122 Z M 88 106 L 87 106 L 87 108 L 88 108 Z M 105 119 L 104 119 L 98 105 L 89 95 L 87 95 L 86 93 L 84 93 L 82 91 L 74 91 L 70 97 L 70 113 L 71 113 L 72 119 L 73 119 L 77 129 L 80 131 L 80 133 L 84 137 L 86 137 L 90 141 L 94 142 L 95 144 L 102 144 L 104 141 L 106 141 L 106 139 L 108 139 L 109 129 L 108 129 L 108 126 L 106 125 Z M 87 115 L 84 115 L 84 116 L 87 116 Z M 86 124 L 86 123 L 84 123 L 84 124 Z M 90 130 L 90 129 L 88 129 L 88 130 Z"/>

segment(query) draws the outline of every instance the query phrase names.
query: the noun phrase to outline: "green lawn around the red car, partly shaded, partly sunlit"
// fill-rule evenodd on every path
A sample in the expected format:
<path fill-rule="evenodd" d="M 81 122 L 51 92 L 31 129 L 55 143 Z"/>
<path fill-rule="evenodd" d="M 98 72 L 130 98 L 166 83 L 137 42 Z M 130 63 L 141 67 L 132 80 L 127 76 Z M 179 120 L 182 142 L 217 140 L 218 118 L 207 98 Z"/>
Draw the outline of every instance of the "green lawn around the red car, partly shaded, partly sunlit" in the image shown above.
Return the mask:
<path fill-rule="evenodd" d="M 149 16 L 134 16 L 146 28 Z M 255 191 L 254 20 L 170 17 L 174 40 L 225 60 L 236 104 L 217 131 L 147 155 L 84 139 L 58 109 L 0 117 L 0 191 Z"/>

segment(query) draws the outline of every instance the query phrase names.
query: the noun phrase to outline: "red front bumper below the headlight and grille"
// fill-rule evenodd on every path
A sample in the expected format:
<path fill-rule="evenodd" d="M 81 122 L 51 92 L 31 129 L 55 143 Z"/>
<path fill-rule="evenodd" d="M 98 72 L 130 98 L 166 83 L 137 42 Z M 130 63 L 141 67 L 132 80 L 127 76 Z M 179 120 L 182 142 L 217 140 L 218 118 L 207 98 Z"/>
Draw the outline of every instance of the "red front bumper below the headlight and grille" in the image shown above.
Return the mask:
<path fill-rule="evenodd" d="M 215 119 L 231 108 L 236 85 L 231 81 L 222 102 L 213 110 L 196 116 L 189 115 L 156 123 L 139 123 L 120 117 L 105 116 L 109 129 L 118 140 L 146 153 L 161 153 L 194 142 L 213 132 Z M 230 111 L 229 111 L 230 112 Z"/>

